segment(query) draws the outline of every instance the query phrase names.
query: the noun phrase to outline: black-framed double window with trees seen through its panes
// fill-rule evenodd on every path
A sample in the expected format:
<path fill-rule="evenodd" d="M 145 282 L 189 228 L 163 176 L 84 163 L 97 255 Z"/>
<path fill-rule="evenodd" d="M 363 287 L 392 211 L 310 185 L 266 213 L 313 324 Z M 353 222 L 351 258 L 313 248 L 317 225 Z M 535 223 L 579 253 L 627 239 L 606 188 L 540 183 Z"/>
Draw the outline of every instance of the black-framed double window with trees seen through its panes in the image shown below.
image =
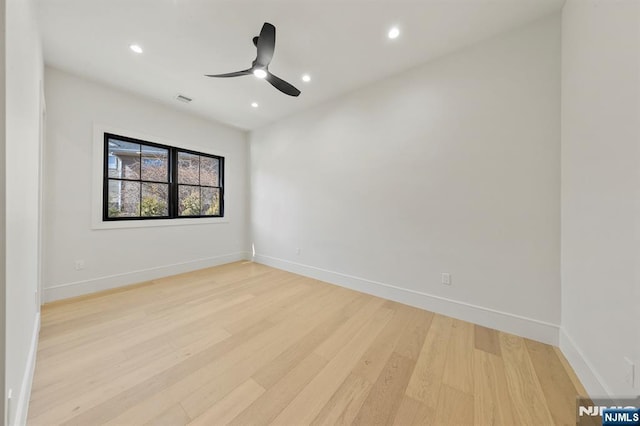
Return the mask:
<path fill-rule="evenodd" d="M 104 134 L 102 219 L 224 216 L 224 158 Z"/>

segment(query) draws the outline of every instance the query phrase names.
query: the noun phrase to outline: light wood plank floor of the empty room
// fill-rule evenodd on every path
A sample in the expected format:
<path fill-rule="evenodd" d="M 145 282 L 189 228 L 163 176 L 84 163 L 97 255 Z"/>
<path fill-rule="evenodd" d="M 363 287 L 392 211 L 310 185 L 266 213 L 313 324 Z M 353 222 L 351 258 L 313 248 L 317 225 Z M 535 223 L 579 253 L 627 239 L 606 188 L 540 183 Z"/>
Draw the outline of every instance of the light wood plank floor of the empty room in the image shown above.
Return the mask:
<path fill-rule="evenodd" d="M 239 262 L 47 305 L 29 425 L 575 425 L 551 346 Z"/>

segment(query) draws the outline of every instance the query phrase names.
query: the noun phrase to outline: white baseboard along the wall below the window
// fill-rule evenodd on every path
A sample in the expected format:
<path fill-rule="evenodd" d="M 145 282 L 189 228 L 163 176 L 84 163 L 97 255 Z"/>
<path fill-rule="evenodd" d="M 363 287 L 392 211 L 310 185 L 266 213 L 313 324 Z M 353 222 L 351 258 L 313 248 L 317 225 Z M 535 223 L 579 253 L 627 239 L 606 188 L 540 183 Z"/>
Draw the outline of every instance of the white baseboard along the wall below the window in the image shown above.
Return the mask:
<path fill-rule="evenodd" d="M 188 262 L 174 263 L 171 265 L 163 265 L 156 268 L 141 269 L 138 271 L 93 278 L 90 280 L 59 284 L 44 288 L 44 301 L 52 302 L 54 300 L 82 296 L 84 294 L 109 290 L 112 288 L 153 280 L 156 278 L 195 271 L 197 269 L 210 268 L 212 266 L 237 262 L 239 260 L 246 260 L 250 259 L 250 256 L 251 255 L 246 252 L 237 252 L 222 256 L 208 257 L 205 259 L 191 260 Z"/>

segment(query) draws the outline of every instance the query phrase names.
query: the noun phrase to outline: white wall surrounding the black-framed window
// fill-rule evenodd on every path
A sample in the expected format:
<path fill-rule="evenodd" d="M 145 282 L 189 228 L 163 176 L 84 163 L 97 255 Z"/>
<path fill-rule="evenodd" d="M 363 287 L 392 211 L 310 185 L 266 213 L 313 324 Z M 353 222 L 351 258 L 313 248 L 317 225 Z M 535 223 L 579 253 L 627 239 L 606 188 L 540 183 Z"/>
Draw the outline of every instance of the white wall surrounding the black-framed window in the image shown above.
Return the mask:
<path fill-rule="evenodd" d="M 246 133 L 46 68 L 46 300 L 131 284 L 245 257 Z M 225 158 L 224 223 L 93 229 L 94 124 Z M 98 194 L 99 196 L 99 194 Z M 206 222 L 207 220 L 205 220 Z M 172 223 L 182 223 L 171 221 Z M 75 261 L 85 269 L 76 271 Z"/>

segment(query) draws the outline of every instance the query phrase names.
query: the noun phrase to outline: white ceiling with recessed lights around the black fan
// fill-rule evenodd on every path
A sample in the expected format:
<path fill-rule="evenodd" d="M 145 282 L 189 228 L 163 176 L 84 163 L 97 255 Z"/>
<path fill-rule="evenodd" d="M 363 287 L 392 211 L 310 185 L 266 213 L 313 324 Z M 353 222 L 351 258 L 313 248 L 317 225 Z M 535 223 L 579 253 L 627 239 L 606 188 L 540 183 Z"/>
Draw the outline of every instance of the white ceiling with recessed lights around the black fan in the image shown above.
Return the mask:
<path fill-rule="evenodd" d="M 47 64 L 242 129 L 254 129 L 558 10 L 564 0 L 39 0 Z M 246 69 L 263 22 L 277 28 L 270 70 Z M 389 40 L 397 25 L 400 37 Z M 144 53 L 129 50 L 140 44 Z M 309 73 L 310 83 L 301 76 Z M 191 104 L 176 94 L 192 97 Z M 252 102 L 259 108 L 252 108 Z"/>

